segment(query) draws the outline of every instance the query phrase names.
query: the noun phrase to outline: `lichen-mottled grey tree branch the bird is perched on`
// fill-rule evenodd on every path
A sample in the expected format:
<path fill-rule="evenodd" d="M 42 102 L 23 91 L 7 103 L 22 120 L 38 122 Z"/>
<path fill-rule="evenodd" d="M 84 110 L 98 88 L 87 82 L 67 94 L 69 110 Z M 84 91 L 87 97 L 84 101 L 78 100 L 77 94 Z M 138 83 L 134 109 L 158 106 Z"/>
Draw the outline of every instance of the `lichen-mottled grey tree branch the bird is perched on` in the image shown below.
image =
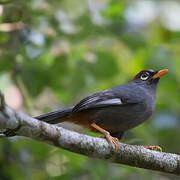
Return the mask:
<path fill-rule="evenodd" d="M 16 130 L 18 136 L 29 137 L 44 143 L 88 157 L 106 159 L 129 166 L 180 174 L 180 155 L 148 150 L 142 146 L 118 143 L 118 150 L 110 148 L 107 141 L 66 130 L 15 112 L 5 105 L 2 94 L 0 128 Z"/>

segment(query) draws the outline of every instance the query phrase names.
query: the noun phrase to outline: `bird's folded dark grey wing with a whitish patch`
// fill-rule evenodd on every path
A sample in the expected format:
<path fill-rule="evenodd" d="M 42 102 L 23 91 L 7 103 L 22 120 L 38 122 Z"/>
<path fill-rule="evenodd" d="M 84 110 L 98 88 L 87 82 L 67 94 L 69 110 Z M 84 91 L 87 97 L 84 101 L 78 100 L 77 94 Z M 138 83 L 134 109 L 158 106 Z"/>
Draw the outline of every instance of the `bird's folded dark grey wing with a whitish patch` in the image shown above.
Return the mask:
<path fill-rule="evenodd" d="M 111 105 L 122 105 L 122 100 L 117 97 L 112 90 L 97 92 L 91 96 L 82 99 L 76 106 L 74 106 L 72 112 L 78 112 L 86 109 L 105 107 Z"/>

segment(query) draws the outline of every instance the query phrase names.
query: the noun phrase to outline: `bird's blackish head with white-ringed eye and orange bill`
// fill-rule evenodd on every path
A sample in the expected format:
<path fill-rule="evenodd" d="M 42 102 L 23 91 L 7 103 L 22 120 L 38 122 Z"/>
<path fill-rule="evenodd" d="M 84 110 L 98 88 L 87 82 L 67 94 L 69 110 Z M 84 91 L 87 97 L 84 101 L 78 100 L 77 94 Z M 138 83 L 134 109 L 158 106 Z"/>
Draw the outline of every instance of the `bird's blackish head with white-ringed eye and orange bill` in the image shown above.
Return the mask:
<path fill-rule="evenodd" d="M 159 79 L 168 72 L 168 69 L 163 69 L 160 71 L 154 71 L 152 69 L 145 69 L 139 72 L 133 80 L 138 82 L 145 82 L 148 84 L 156 84 Z"/>

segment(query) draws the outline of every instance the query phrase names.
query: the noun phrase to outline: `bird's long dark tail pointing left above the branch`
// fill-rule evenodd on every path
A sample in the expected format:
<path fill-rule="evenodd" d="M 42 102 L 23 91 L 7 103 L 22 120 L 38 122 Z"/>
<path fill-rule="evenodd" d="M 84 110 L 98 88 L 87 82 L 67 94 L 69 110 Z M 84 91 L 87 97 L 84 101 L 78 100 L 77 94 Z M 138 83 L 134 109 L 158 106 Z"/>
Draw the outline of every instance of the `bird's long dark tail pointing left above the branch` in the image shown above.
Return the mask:
<path fill-rule="evenodd" d="M 71 115 L 73 108 L 67 108 L 63 110 L 57 110 L 43 114 L 37 117 L 34 117 L 40 121 L 44 121 L 50 124 L 57 124 L 68 120 L 68 117 Z"/>

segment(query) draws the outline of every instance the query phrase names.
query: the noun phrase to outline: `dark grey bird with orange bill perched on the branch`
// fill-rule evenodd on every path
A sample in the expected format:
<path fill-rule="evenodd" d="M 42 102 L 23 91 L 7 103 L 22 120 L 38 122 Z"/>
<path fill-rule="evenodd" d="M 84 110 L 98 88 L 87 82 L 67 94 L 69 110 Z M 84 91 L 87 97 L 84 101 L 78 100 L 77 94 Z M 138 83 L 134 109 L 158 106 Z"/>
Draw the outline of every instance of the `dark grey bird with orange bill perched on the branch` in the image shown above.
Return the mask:
<path fill-rule="evenodd" d="M 72 122 L 101 133 L 115 149 L 124 133 L 148 120 L 155 109 L 159 79 L 168 69 L 140 71 L 126 84 L 96 92 L 75 106 L 35 117 L 40 121 L 58 124 Z M 158 146 L 159 147 L 159 146 Z M 147 147 L 153 149 L 153 146 Z"/>

